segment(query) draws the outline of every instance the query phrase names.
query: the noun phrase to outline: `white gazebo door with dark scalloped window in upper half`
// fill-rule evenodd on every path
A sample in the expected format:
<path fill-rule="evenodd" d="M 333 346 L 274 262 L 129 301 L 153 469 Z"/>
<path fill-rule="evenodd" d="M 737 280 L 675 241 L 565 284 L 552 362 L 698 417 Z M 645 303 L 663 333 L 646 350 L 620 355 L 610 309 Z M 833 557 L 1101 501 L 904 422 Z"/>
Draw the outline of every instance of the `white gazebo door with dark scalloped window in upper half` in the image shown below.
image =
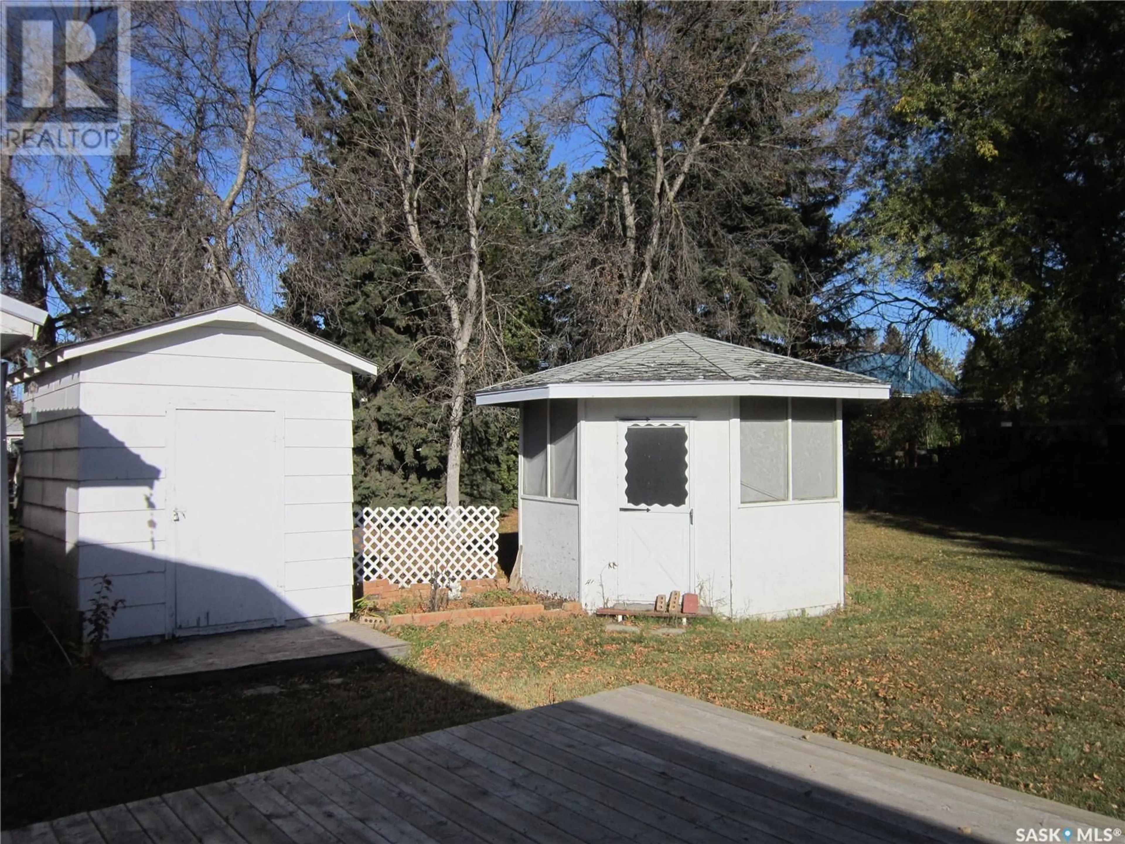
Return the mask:
<path fill-rule="evenodd" d="M 687 422 L 622 422 L 619 447 L 618 599 L 691 590 Z"/>

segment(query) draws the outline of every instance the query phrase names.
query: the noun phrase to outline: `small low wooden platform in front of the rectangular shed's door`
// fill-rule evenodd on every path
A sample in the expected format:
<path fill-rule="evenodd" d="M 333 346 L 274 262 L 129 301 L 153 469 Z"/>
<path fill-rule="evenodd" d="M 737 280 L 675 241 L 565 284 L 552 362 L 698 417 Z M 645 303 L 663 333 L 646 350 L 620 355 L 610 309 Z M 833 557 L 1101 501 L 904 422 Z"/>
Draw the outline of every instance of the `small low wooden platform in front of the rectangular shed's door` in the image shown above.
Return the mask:
<path fill-rule="evenodd" d="M 111 648 L 98 664 L 110 680 L 159 680 L 306 661 L 346 664 L 410 656 L 408 641 L 356 621 L 192 636 L 158 645 Z"/>

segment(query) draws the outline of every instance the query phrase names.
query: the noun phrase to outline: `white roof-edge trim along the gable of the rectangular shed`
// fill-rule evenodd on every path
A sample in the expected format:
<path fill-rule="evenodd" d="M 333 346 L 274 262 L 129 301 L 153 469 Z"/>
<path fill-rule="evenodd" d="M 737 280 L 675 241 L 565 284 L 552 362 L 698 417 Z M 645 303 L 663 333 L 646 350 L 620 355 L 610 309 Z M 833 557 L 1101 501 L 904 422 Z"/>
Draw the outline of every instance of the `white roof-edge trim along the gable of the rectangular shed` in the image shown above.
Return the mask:
<path fill-rule="evenodd" d="M 326 358 L 332 358 L 333 360 L 349 367 L 354 372 L 363 372 L 364 375 L 371 376 L 378 375 L 378 368 L 367 358 L 353 354 L 345 349 L 341 349 L 334 343 L 313 336 L 307 331 L 295 329 L 280 320 L 274 320 L 272 316 L 267 316 L 266 314 L 259 313 L 258 311 L 246 307 L 245 305 L 231 305 L 230 307 L 218 308 L 216 311 L 204 311 L 179 320 L 169 320 L 168 322 L 158 323 L 155 325 L 135 329 L 120 334 L 114 334 L 100 340 L 89 340 L 84 343 L 65 345 L 54 352 L 45 354 L 35 367 L 14 372 L 10 380 L 14 384 L 19 383 L 38 375 L 45 369 L 50 369 L 56 363 L 74 360 L 87 354 L 94 354 L 97 352 L 110 351 L 120 347 L 132 345 L 144 340 L 151 340 L 152 338 L 172 334 L 178 331 L 184 331 L 186 329 L 194 329 L 200 325 L 259 327 L 267 333 L 280 336 L 291 343 L 295 343 L 296 345 L 308 349 L 312 352 L 323 354 Z"/>

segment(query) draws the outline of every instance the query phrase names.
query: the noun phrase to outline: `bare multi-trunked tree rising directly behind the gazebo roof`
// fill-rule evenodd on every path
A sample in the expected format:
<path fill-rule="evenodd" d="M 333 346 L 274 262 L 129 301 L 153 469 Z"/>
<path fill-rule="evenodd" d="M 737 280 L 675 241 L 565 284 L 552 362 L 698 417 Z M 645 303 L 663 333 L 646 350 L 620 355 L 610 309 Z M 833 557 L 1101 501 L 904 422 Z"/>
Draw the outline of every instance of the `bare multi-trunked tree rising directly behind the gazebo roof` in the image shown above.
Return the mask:
<path fill-rule="evenodd" d="M 749 339 L 721 331 L 716 314 L 746 320 L 778 284 L 749 250 L 777 250 L 800 226 L 755 217 L 746 197 L 798 206 L 826 180 L 831 143 L 832 95 L 806 61 L 795 6 L 606 1 L 580 7 L 574 25 L 570 120 L 605 154 L 582 186 L 583 225 L 559 268 L 580 291 L 580 352 L 708 320 Z M 706 289 L 708 269 L 718 278 L 739 264 L 747 284 Z M 765 333 L 782 320 L 760 316 Z"/>

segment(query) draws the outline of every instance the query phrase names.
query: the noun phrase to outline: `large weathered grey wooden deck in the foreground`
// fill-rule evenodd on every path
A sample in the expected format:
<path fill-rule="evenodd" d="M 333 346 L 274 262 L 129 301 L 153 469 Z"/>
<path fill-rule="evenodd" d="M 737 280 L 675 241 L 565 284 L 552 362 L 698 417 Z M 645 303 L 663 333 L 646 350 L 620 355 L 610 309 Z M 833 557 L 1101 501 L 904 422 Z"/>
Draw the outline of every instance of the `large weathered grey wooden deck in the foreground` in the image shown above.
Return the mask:
<path fill-rule="evenodd" d="M 638 685 L 3 842 L 1007 843 L 1083 826 L 1125 824 Z"/>

